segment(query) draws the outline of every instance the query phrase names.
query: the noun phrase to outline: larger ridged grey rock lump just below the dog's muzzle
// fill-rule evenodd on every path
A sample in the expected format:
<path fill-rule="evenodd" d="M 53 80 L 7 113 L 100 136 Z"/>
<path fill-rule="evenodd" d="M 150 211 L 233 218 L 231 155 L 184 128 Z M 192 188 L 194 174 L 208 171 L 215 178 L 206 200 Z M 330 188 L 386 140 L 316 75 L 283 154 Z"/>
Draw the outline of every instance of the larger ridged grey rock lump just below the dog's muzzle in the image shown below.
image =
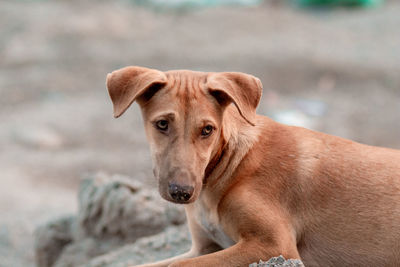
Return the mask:
<path fill-rule="evenodd" d="M 132 242 L 185 220 L 183 207 L 128 177 L 97 174 L 82 180 L 78 221 L 85 236 Z"/>

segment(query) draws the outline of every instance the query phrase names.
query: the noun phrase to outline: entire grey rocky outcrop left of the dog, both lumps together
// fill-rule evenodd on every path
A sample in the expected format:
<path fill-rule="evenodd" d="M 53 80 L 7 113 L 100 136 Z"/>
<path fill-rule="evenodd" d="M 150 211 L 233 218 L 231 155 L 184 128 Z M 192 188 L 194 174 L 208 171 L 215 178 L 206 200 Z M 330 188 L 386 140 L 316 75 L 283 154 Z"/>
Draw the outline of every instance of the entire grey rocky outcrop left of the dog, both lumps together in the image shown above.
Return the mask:
<path fill-rule="evenodd" d="M 182 206 L 172 205 L 156 190 L 120 175 L 99 173 L 82 179 L 78 204 L 76 217 L 57 219 L 37 229 L 38 266 L 85 264 L 186 221 Z"/>

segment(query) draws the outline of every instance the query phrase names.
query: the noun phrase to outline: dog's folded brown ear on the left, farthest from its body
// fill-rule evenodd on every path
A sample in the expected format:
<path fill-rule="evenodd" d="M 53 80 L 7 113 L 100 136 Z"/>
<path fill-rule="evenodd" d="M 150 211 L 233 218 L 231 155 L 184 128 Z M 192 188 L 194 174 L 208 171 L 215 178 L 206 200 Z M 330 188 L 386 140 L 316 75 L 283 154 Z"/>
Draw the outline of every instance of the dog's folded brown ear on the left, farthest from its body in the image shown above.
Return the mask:
<path fill-rule="evenodd" d="M 121 116 L 141 96 L 150 98 L 167 76 L 158 70 L 142 67 L 125 67 L 107 75 L 107 88 L 114 106 L 114 117 Z"/>

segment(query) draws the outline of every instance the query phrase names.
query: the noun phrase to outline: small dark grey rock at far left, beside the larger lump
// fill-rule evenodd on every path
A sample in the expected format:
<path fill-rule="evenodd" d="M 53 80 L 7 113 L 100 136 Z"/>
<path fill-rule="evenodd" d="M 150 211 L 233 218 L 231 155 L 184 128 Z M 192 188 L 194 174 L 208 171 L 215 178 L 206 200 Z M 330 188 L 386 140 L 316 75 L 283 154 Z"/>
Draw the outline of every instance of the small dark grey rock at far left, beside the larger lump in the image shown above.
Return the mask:
<path fill-rule="evenodd" d="M 66 216 L 36 229 L 34 235 L 37 266 L 53 266 L 64 247 L 72 242 L 74 221 L 74 216 Z"/>

